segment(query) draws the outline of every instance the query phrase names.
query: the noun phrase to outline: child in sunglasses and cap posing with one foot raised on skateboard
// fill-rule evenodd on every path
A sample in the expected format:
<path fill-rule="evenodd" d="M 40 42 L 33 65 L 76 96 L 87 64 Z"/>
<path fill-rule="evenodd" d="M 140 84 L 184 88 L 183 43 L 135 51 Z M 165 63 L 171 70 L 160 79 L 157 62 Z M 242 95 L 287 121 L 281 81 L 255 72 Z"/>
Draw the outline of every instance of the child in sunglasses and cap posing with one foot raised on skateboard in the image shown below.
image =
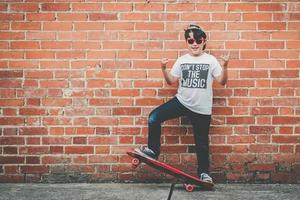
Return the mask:
<path fill-rule="evenodd" d="M 213 78 L 222 85 L 227 82 L 228 56 L 222 57 L 223 68 L 217 59 L 204 52 L 206 34 L 197 25 L 185 30 L 189 50 L 177 59 L 171 71 L 166 70 L 167 59 L 161 60 L 161 69 L 166 82 L 179 82 L 176 96 L 154 109 L 148 120 L 148 147 L 136 151 L 157 159 L 160 154 L 161 123 L 181 116 L 190 119 L 196 144 L 198 175 L 202 181 L 212 182 L 209 176 L 208 132 L 211 121 L 213 100 Z"/>

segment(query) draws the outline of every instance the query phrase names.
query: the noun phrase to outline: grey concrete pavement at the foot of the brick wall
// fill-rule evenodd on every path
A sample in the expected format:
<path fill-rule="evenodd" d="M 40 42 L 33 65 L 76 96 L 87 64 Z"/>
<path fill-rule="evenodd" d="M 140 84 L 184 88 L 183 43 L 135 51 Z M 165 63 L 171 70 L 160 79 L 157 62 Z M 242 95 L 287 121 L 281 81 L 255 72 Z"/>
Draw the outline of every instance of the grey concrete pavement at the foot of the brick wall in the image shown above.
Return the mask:
<path fill-rule="evenodd" d="M 169 184 L 0 184 L 7 200 L 165 200 Z M 299 200 L 300 184 L 217 184 L 212 191 L 186 192 L 176 185 L 172 200 Z"/>

